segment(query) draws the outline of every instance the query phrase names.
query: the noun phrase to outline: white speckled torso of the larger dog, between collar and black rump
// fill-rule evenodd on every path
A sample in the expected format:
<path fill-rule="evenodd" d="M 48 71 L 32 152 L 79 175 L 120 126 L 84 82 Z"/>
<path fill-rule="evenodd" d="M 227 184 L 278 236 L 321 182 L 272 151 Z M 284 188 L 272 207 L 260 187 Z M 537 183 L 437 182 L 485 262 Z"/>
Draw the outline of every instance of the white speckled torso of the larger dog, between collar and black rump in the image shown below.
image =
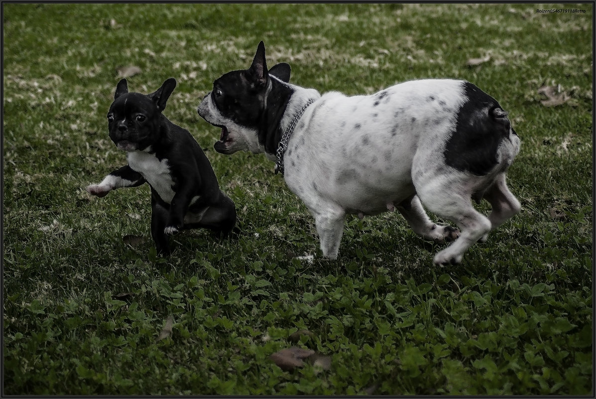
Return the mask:
<path fill-rule="evenodd" d="M 288 145 L 288 185 L 300 197 L 374 215 L 415 194 L 418 151 L 442 162 L 440 147 L 461 106 L 461 82 L 406 82 L 366 96 L 331 92 L 315 105 Z"/>

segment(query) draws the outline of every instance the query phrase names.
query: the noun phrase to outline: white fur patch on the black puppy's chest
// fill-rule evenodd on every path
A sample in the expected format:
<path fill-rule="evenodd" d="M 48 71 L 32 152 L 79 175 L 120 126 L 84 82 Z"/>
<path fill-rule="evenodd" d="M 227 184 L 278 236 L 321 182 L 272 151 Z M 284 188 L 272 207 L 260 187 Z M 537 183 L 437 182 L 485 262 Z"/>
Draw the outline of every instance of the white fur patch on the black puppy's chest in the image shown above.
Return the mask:
<path fill-rule="evenodd" d="M 160 161 L 154 154 L 145 151 L 131 151 L 126 159 L 128 165 L 139 172 L 166 203 L 172 203 L 175 193 L 172 190 L 173 181 L 167 159 Z"/>

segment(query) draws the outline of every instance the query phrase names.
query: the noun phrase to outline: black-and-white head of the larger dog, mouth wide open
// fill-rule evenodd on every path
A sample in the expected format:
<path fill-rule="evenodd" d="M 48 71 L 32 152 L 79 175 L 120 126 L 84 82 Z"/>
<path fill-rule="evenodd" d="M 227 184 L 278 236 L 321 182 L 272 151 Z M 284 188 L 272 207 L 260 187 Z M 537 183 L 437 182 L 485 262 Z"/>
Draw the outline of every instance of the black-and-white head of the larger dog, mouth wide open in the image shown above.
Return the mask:
<path fill-rule="evenodd" d="M 267 70 L 265 47 L 262 42 L 257 48 L 249 69 L 235 70 L 222 75 L 213 82 L 213 90 L 198 106 L 198 115 L 222 129 L 216 151 L 233 154 L 236 151 L 262 153 L 265 147 L 259 144 L 259 129 L 263 129 L 263 112 L 267 107 L 267 96 L 271 90 L 271 76 L 288 82 L 290 66 L 277 64 Z"/>

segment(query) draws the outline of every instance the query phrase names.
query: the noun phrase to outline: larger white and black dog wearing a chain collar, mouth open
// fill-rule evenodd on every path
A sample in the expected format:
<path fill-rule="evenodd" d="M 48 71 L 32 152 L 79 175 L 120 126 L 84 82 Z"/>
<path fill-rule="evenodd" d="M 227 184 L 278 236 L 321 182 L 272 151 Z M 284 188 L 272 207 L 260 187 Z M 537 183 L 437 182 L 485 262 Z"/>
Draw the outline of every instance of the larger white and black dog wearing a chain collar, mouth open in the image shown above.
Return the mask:
<path fill-rule="evenodd" d="M 520 139 L 499 103 L 473 84 L 427 79 L 372 95 L 319 94 L 288 83 L 290 66 L 228 72 L 198 106 L 221 127 L 215 149 L 265 153 L 315 218 L 325 257 L 336 259 L 346 214 L 398 209 L 424 239 L 450 242 L 434 256 L 457 264 L 477 241 L 520 211 L 505 172 Z M 471 199 L 491 203 L 486 218 Z M 423 209 L 460 228 L 434 224 Z"/>

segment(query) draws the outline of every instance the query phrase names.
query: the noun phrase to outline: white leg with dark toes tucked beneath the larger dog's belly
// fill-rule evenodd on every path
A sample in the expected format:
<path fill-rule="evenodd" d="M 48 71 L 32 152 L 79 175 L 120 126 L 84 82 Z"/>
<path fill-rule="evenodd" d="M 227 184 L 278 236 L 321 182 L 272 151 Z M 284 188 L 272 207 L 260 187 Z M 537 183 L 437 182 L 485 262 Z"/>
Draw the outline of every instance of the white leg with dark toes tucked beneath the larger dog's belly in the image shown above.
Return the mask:
<path fill-rule="evenodd" d="M 423 239 L 436 243 L 445 243 L 451 242 L 460 236 L 460 231 L 456 228 L 433 223 L 424 211 L 418 196 L 414 195 L 403 200 L 396 208 L 408 221 L 414 233 L 423 237 Z"/>

